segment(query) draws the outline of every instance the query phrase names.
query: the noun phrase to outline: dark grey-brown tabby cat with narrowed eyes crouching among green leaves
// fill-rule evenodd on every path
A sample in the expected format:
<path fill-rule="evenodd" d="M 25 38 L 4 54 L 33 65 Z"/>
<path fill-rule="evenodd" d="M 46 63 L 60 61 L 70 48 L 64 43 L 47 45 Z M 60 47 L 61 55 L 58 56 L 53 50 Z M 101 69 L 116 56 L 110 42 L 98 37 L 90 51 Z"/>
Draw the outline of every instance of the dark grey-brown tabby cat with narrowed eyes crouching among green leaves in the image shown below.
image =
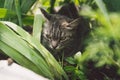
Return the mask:
<path fill-rule="evenodd" d="M 44 9 L 41 12 L 46 18 L 41 41 L 54 56 L 62 53 L 71 56 L 82 49 L 83 36 L 89 30 L 82 17 L 71 19 L 60 14 L 49 14 Z"/>

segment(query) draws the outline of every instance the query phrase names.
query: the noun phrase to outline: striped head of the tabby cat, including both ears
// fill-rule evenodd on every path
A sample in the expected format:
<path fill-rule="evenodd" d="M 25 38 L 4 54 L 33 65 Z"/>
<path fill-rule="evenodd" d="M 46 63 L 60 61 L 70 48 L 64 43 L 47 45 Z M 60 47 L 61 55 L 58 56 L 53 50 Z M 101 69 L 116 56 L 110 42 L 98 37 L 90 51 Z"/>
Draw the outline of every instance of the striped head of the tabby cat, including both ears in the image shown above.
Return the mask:
<path fill-rule="evenodd" d="M 43 42 L 52 50 L 61 50 L 68 47 L 76 36 L 76 30 L 80 22 L 78 19 L 70 19 L 58 14 L 49 14 L 41 9 L 46 22 L 43 27 Z"/>

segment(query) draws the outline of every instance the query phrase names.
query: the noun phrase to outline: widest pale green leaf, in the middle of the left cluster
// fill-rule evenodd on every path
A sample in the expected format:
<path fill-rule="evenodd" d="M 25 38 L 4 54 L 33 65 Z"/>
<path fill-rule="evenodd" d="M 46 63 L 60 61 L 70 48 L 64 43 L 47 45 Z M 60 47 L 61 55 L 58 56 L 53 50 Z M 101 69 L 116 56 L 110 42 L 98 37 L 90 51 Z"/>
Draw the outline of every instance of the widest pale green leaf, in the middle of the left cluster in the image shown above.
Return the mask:
<path fill-rule="evenodd" d="M 8 27 L 4 26 L 1 23 L 0 37 L 0 40 L 2 42 L 14 48 L 20 54 L 22 54 L 31 62 L 33 62 L 36 65 L 36 67 L 39 68 L 39 71 L 43 76 L 53 79 L 53 76 L 49 71 L 49 66 L 46 64 L 43 58 L 40 55 L 38 55 L 36 51 L 34 51 L 34 49 L 26 41 L 21 39 L 20 36 L 17 36 L 17 34 L 12 32 Z"/>

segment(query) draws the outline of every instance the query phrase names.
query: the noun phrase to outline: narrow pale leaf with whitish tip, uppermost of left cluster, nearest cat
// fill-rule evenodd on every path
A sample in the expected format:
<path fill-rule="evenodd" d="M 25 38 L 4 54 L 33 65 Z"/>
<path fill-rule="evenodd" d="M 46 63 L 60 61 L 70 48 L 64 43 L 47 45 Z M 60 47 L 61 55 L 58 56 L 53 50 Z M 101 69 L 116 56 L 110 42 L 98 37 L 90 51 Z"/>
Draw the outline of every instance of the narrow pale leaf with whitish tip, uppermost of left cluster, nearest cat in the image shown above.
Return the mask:
<path fill-rule="evenodd" d="M 39 42 L 38 39 L 35 39 L 27 32 L 25 32 L 22 28 L 10 22 L 3 22 L 7 24 L 10 28 L 12 28 L 17 34 L 21 36 L 27 43 L 29 43 L 32 48 L 39 52 L 39 56 L 43 57 L 46 63 L 49 65 L 49 70 L 52 75 L 58 79 L 62 79 L 62 76 L 67 80 L 68 77 L 62 67 L 58 64 L 58 62 L 54 59 L 54 57 L 50 54 L 48 50 L 46 50 Z"/>

